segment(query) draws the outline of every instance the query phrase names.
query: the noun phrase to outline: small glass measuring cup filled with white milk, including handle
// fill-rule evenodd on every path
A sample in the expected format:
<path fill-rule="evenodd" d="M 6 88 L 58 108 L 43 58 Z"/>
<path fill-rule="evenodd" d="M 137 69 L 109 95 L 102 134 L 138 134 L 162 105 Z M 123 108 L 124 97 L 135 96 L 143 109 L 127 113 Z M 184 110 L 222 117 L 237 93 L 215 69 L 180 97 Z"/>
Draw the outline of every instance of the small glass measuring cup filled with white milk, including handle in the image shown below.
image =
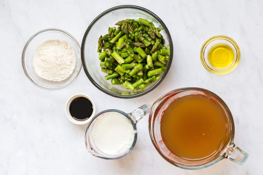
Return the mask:
<path fill-rule="evenodd" d="M 85 134 L 88 152 L 108 160 L 126 156 L 137 140 L 137 122 L 149 111 L 150 106 L 144 104 L 129 114 L 117 109 L 97 114 L 90 121 Z"/>

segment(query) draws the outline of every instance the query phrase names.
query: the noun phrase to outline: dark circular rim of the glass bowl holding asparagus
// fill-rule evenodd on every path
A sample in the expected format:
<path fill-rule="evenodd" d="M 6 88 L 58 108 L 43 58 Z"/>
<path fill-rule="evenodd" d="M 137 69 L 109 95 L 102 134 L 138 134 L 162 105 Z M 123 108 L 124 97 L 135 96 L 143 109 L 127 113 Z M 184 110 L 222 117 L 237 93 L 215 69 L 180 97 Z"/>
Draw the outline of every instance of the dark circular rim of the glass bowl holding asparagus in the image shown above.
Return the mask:
<path fill-rule="evenodd" d="M 102 18 L 104 15 L 114 11 L 114 10 L 118 10 L 118 9 L 125 9 L 125 8 L 131 8 L 131 9 L 137 9 L 137 10 L 141 10 L 143 12 L 146 12 L 148 14 L 150 14 L 152 17 L 154 17 L 163 27 L 163 30 L 166 32 L 167 36 L 168 36 L 168 41 L 169 41 L 169 45 L 170 45 L 170 59 L 168 62 L 168 65 L 166 67 L 166 70 L 164 71 L 162 77 L 149 89 L 147 89 L 146 91 L 143 91 L 141 93 L 138 94 L 134 94 L 134 95 L 128 95 L 128 96 L 124 96 L 124 95 L 118 95 L 118 94 L 114 94 L 112 92 L 109 92 L 107 90 L 105 90 L 104 88 L 102 88 L 98 83 L 96 83 L 93 78 L 90 76 L 89 71 L 86 68 L 86 63 L 85 63 L 85 58 L 84 58 L 84 49 L 85 49 L 85 43 L 86 43 L 86 39 L 87 36 L 89 34 L 89 31 L 92 29 L 93 25 L 100 19 Z M 108 10 L 105 10 L 104 12 L 102 12 L 101 14 L 99 14 L 88 26 L 87 30 L 85 31 L 85 34 L 83 36 L 83 40 L 82 40 L 82 44 L 81 44 L 81 60 L 82 60 L 82 66 L 84 69 L 85 74 L 87 75 L 88 79 L 90 80 L 90 82 L 96 87 L 98 88 L 100 91 L 104 92 L 105 94 L 108 94 L 112 97 L 117 97 L 117 98 L 124 98 L 124 99 L 128 99 L 128 98 L 136 98 L 136 97 L 140 97 L 143 96 L 149 92 L 151 92 L 153 89 L 155 89 L 165 78 L 165 76 L 167 75 L 170 67 L 171 67 L 171 63 L 173 61 L 173 42 L 172 42 L 172 38 L 170 35 L 170 32 L 168 30 L 168 28 L 166 27 L 166 25 L 164 24 L 164 22 L 153 12 L 151 12 L 150 10 L 140 7 L 140 6 L 133 6 L 133 5 L 122 5 L 122 6 L 115 6 L 112 8 L 109 8 Z"/>

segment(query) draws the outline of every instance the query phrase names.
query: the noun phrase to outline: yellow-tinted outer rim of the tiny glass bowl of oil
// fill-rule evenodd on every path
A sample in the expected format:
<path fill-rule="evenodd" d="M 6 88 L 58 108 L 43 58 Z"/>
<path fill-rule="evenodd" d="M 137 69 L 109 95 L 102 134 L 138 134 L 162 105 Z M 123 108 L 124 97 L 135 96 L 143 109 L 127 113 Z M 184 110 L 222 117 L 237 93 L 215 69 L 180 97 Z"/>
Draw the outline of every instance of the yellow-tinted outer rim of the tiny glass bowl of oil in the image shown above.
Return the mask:
<path fill-rule="evenodd" d="M 204 62 L 204 57 L 203 57 L 203 52 L 205 51 L 205 47 L 206 45 L 209 44 L 209 42 L 211 40 L 216 40 L 216 39 L 220 39 L 220 38 L 223 38 L 223 39 L 226 39 L 229 43 L 231 43 L 236 51 L 237 51 L 237 59 L 235 61 L 235 64 L 233 66 L 231 66 L 229 69 L 227 69 L 226 71 L 224 72 L 219 72 L 219 71 L 211 71 L 212 69 Z M 231 42 L 230 42 L 231 41 Z M 204 68 L 210 72 L 210 73 L 213 73 L 215 75 L 226 75 L 226 74 L 229 74 L 230 72 L 234 71 L 236 69 L 236 67 L 238 66 L 239 64 L 239 61 L 240 61 L 240 49 L 239 49 L 239 46 L 237 45 L 237 43 L 232 39 L 230 38 L 229 36 L 225 36 L 225 35 L 215 35 L 215 36 L 212 36 L 211 38 L 207 39 L 205 41 L 205 43 L 203 44 L 203 46 L 201 47 L 201 50 L 200 50 L 200 59 L 201 59 L 201 63 L 202 65 L 204 66 Z M 210 70 L 211 69 L 211 70 Z"/>

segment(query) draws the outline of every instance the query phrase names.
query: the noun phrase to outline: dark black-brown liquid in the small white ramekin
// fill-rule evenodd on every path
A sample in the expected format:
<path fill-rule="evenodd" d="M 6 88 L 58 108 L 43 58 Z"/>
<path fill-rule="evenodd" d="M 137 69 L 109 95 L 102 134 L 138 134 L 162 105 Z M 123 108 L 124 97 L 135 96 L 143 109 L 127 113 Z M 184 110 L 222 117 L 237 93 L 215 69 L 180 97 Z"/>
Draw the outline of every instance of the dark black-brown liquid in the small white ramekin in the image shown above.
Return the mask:
<path fill-rule="evenodd" d="M 74 119 L 83 121 L 92 115 L 93 105 L 89 99 L 78 97 L 70 103 L 69 112 Z"/>

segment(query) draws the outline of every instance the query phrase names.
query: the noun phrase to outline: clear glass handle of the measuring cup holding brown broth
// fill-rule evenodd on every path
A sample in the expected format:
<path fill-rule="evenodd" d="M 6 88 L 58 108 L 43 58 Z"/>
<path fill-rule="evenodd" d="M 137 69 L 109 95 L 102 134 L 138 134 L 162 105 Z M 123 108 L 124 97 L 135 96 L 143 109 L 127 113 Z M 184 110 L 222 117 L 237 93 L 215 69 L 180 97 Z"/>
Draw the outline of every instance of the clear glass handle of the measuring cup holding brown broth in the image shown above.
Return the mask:
<path fill-rule="evenodd" d="M 245 161 L 247 160 L 248 156 L 248 153 L 241 150 L 235 144 L 229 145 L 229 147 L 226 150 L 226 158 L 239 165 L 243 165 L 243 163 L 245 163 Z"/>

